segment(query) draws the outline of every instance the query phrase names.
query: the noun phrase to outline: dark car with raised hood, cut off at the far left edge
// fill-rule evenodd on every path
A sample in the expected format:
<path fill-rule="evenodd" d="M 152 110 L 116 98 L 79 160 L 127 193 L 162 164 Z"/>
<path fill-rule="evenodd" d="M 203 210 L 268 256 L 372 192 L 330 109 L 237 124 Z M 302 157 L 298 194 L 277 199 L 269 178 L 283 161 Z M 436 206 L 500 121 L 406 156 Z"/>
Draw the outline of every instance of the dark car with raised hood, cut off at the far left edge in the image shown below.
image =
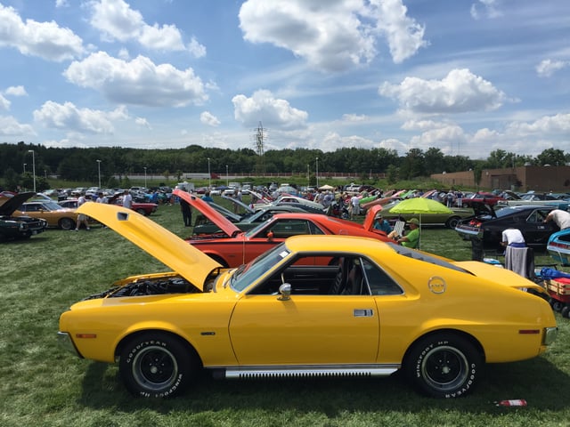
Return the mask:
<path fill-rule="evenodd" d="M 47 227 L 45 220 L 29 216 L 12 216 L 22 203 L 35 195 L 34 192 L 28 192 L 0 199 L 0 241 L 30 238 L 45 230 Z"/>

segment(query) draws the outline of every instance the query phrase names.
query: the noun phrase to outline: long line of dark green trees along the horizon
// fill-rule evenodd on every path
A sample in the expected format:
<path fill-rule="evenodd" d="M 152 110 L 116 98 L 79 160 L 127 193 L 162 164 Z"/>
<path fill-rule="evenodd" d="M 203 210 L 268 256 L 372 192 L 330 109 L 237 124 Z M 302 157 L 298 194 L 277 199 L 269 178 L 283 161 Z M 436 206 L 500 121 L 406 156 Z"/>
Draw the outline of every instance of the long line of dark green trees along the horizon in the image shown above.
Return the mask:
<path fill-rule="evenodd" d="M 35 166 L 38 180 L 57 175 L 66 181 L 97 182 L 102 185 L 115 175 L 148 173 L 181 176 L 182 173 L 224 175 L 254 173 L 357 173 L 362 179 L 384 174 L 388 182 L 413 180 L 432 173 L 452 173 L 521 165 L 566 165 L 570 153 L 545 149 L 536 157 L 502 149 L 485 160 L 447 156 L 441 149 L 410 149 L 398 156 L 395 149 L 343 148 L 267 150 L 259 156 L 253 149 L 216 149 L 191 145 L 183 149 L 129 149 L 121 147 L 53 148 L 20 141 L 0 144 L 0 170 L 4 187 L 17 187 L 29 179 Z M 23 185 L 23 187 L 29 187 Z"/>

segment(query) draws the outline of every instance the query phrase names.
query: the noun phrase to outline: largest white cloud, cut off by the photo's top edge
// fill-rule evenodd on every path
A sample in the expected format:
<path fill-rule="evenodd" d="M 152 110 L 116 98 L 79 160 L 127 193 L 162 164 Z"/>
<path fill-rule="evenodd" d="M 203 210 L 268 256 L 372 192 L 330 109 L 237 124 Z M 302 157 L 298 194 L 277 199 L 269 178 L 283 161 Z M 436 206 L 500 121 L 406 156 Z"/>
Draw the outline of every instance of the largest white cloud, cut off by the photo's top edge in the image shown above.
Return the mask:
<path fill-rule="evenodd" d="M 248 0 L 240 28 L 250 43 L 274 44 L 313 68 L 343 71 L 371 62 L 379 35 L 387 37 L 396 63 L 426 45 L 424 28 L 406 12 L 402 0 Z"/>

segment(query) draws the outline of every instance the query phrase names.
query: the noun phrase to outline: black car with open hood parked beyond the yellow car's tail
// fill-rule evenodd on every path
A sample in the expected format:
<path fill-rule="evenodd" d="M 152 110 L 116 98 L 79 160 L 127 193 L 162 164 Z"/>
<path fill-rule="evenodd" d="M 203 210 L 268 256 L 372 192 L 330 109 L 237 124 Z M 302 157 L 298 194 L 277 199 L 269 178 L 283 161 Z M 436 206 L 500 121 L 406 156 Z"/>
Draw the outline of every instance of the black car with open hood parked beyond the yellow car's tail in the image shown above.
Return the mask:
<path fill-rule="evenodd" d="M 544 222 L 553 205 L 516 205 L 495 210 L 486 205 L 476 206 L 476 215 L 461 220 L 455 227 L 466 240 L 483 242 L 485 249 L 501 248 L 502 231 L 509 228 L 520 230 L 527 246 L 545 247 L 550 235 L 558 231 L 554 222 Z"/>

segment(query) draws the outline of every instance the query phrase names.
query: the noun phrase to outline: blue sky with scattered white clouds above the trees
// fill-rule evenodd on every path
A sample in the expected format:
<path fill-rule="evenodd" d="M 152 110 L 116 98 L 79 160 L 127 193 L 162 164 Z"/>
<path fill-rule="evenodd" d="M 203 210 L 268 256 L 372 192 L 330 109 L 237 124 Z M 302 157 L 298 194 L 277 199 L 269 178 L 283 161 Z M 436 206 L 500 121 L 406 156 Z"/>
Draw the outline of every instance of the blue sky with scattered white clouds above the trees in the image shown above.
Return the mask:
<path fill-rule="evenodd" d="M 0 0 L 0 142 L 570 150 L 568 0 Z"/>

